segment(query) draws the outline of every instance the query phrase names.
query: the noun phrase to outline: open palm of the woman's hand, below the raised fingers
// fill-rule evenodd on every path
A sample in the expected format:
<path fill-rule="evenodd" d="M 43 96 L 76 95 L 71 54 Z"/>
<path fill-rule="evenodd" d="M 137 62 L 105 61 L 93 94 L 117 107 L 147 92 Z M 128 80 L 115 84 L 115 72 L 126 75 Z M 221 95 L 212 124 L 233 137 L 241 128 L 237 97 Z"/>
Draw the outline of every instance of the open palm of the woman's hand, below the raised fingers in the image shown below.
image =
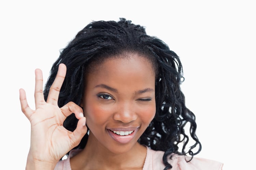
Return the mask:
<path fill-rule="evenodd" d="M 61 152 L 63 148 L 72 149 L 70 138 L 67 138 L 71 133 L 62 126 L 63 117 L 58 107 L 46 103 L 29 118 L 31 145 L 37 149 L 37 153 L 40 153 L 38 156 L 46 155 L 56 160 L 65 152 L 67 153 L 67 151 Z M 49 153 L 51 155 L 48 155 Z M 44 160 L 45 158 L 40 159 Z"/>

